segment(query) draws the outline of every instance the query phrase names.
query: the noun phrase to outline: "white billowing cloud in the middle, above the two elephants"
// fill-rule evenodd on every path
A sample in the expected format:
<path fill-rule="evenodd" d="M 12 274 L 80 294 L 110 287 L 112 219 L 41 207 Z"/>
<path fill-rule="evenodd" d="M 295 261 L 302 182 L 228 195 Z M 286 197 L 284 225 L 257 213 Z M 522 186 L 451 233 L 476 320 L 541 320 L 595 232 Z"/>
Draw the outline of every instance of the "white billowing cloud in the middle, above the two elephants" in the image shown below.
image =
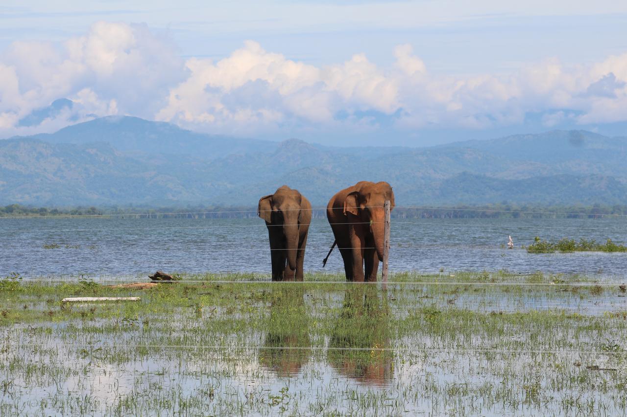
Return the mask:
<path fill-rule="evenodd" d="M 192 58 L 186 66 L 189 78 L 172 88 L 158 120 L 255 130 L 277 123 L 332 124 L 339 111 L 399 108 L 396 80 L 364 54 L 317 68 L 248 41 L 216 63 Z"/>

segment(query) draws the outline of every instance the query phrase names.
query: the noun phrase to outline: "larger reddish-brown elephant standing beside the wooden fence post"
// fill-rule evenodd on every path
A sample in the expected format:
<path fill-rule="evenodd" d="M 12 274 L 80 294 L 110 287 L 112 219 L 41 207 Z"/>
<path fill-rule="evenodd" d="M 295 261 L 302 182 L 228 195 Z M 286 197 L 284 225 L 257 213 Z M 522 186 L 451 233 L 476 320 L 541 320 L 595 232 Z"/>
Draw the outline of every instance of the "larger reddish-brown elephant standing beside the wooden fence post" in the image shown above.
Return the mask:
<path fill-rule="evenodd" d="M 335 235 L 347 281 L 377 281 L 383 260 L 384 209 L 394 192 L 387 182 L 361 181 L 336 193 L 327 205 L 327 219 Z M 364 274 L 364 265 L 366 268 Z"/>

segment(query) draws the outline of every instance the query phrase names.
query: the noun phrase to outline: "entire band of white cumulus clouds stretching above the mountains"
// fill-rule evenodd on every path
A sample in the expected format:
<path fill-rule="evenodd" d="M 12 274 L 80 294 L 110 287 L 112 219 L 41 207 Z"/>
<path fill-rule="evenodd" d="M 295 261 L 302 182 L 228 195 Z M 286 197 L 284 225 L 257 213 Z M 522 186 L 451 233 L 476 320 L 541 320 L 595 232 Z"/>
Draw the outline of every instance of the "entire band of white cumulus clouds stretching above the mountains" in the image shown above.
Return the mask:
<path fill-rule="evenodd" d="M 20 120 L 58 98 L 75 105 L 34 129 L 105 115 L 246 135 L 286 127 L 482 129 L 519 125 L 530 113 L 547 127 L 627 120 L 627 53 L 465 76 L 429 71 L 409 44 L 391 54 L 385 67 L 360 51 L 315 66 L 248 41 L 222 59 L 184 61 L 171 39 L 145 25 L 100 22 L 63 44 L 17 42 L 0 55 L 0 133 L 19 131 Z"/>

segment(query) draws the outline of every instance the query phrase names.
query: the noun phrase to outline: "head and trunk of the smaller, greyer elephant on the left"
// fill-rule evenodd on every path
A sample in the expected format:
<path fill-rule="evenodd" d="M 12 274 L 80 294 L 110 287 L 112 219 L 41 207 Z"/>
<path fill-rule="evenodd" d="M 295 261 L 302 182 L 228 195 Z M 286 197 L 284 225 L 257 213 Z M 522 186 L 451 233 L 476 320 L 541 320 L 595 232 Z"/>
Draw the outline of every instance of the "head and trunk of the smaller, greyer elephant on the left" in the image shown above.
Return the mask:
<path fill-rule="evenodd" d="M 266 221 L 268 227 L 282 229 L 283 237 L 285 238 L 287 262 L 292 270 L 295 270 L 297 267 L 299 225 L 303 223 L 303 212 L 301 210 L 303 200 L 305 198 L 300 192 L 283 185 L 274 194 L 261 197 L 257 209 L 257 214 Z M 310 216 L 310 213 L 304 214 L 304 216 Z"/>

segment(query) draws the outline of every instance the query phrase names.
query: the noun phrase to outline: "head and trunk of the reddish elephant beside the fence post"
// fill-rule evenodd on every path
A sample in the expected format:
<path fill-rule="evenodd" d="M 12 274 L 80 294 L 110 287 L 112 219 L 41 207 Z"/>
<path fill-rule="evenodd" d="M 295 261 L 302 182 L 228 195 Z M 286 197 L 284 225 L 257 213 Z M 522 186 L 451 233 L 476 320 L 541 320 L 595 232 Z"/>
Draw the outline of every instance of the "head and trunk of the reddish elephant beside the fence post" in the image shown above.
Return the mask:
<path fill-rule="evenodd" d="M 352 223 L 369 227 L 379 260 L 383 260 L 383 235 L 385 214 L 383 204 L 389 200 L 390 210 L 394 208 L 394 192 L 387 182 L 362 181 L 344 200 L 344 215 Z"/>

